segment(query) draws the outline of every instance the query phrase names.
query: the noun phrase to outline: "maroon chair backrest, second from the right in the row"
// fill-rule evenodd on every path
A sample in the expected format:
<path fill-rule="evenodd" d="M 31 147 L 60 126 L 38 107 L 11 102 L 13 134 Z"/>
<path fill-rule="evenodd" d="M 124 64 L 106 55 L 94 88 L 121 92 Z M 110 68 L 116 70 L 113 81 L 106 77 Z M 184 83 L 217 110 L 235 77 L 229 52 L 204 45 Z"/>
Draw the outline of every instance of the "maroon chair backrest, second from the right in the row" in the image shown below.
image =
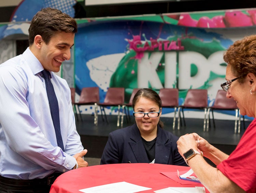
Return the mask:
<path fill-rule="evenodd" d="M 207 89 L 189 89 L 182 106 L 191 108 L 208 107 Z"/>

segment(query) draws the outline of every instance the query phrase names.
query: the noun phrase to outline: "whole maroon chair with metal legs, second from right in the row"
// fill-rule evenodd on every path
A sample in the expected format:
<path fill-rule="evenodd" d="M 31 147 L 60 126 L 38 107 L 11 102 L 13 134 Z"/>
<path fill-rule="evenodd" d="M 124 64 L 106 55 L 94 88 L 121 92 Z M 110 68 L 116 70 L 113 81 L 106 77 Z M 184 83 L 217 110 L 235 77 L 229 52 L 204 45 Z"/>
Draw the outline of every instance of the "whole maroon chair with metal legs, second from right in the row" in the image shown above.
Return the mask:
<path fill-rule="evenodd" d="M 184 111 L 183 109 L 199 109 L 204 110 L 204 121 L 203 121 L 203 131 L 206 128 L 206 117 L 208 112 L 208 92 L 207 89 L 189 89 L 185 97 L 183 105 L 178 108 L 178 130 L 180 129 L 180 109 L 182 110 L 184 126 L 186 126 Z"/>

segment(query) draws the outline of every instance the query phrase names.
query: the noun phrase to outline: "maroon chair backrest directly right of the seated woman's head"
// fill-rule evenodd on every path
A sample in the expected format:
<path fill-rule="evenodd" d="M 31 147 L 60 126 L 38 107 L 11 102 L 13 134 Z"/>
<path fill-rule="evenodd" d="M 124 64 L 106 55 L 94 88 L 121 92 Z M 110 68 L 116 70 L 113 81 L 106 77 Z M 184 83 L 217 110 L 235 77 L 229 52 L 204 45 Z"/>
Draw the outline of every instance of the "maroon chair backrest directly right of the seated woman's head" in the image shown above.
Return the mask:
<path fill-rule="evenodd" d="M 177 88 L 161 88 L 159 96 L 162 101 L 162 107 L 179 106 L 179 90 Z"/>

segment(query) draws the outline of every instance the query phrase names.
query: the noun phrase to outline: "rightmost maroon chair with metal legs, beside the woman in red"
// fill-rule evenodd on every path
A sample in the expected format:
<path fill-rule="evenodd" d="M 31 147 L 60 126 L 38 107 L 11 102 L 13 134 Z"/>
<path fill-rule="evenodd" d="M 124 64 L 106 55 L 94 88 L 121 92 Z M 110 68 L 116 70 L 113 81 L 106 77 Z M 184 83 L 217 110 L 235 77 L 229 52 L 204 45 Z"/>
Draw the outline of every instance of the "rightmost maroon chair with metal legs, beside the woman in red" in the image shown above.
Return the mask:
<path fill-rule="evenodd" d="M 236 101 L 233 99 L 227 98 L 226 96 L 227 92 L 220 89 L 217 91 L 216 98 L 214 101 L 214 104 L 208 108 L 208 120 L 207 120 L 207 131 L 209 130 L 209 119 L 210 114 L 209 111 L 212 111 L 212 120 L 213 120 L 213 127 L 215 128 L 215 121 L 213 116 L 213 111 L 220 111 L 220 110 L 233 110 L 236 111 L 236 119 L 235 119 L 235 126 L 234 126 L 234 133 L 240 133 L 240 124 L 241 124 L 241 115 L 240 110 L 237 107 Z M 238 125 L 237 125 L 238 121 Z M 244 124 L 244 117 L 243 117 L 243 124 Z"/>

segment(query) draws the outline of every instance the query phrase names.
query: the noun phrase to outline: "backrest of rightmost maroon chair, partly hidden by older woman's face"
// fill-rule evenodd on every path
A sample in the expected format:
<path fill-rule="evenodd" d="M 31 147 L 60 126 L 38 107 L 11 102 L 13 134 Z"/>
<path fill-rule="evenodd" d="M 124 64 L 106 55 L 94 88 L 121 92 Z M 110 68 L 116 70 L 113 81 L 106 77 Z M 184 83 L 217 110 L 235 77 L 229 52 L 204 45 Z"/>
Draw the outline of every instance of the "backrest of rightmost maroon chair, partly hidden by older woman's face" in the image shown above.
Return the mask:
<path fill-rule="evenodd" d="M 227 92 L 218 90 L 212 107 L 219 109 L 237 109 L 237 103 L 233 99 L 226 97 Z"/>

